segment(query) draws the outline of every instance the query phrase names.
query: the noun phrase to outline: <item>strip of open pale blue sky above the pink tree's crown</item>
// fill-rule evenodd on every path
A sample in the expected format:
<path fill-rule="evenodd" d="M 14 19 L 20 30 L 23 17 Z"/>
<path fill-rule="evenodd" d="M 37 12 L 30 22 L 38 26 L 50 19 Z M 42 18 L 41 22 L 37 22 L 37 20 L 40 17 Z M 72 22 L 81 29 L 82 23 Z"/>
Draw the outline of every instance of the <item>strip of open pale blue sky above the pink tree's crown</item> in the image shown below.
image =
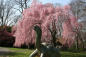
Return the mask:
<path fill-rule="evenodd" d="M 61 5 L 67 5 L 71 0 L 39 0 L 39 2 L 45 3 L 60 3 Z"/>

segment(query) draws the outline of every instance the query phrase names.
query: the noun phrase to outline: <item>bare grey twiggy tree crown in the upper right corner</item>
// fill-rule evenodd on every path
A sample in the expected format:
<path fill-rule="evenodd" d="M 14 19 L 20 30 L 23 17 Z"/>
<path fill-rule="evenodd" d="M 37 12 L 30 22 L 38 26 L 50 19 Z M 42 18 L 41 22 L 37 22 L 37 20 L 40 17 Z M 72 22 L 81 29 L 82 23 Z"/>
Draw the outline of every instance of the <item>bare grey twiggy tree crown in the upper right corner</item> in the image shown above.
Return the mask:
<path fill-rule="evenodd" d="M 81 17 L 86 16 L 86 1 L 85 0 L 72 0 L 70 3 L 71 10 L 76 18 L 81 19 Z"/>

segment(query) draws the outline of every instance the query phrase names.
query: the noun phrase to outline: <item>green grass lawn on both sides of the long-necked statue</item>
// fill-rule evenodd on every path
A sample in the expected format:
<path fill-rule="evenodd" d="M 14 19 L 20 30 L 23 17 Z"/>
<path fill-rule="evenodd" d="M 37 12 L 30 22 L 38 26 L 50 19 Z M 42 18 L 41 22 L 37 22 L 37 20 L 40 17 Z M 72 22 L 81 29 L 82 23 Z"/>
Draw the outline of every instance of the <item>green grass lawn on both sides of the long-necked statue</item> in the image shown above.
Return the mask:
<path fill-rule="evenodd" d="M 30 53 L 34 50 L 30 49 L 21 49 L 21 48 L 8 48 L 11 52 L 7 54 L 0 55 L 0 57 L 29 57 Z M 62 57 L 86 57 L 86 52 L 64 52 L 61 51 Z"/>

